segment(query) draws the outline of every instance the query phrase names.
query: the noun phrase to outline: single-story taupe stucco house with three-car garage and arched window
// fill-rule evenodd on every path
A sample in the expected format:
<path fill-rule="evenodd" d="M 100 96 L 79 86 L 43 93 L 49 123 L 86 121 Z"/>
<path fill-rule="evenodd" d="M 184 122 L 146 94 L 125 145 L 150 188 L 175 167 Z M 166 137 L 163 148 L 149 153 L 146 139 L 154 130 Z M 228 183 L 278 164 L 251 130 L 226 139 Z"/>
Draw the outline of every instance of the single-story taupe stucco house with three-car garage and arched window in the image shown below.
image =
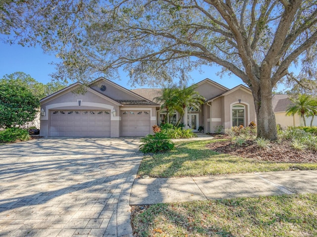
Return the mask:
<path fill-rule="evenodd" d="M 44 137 L 120 137 L 145 136 L 153 133 L 152 126 L 160 124 L 160 105 L 154 100 L 161 89 L 128 90 L 110 80 L 99 78 L 88 84 L 84 94 L 75 93 L 82 83 L 76 82 L 43 98 L 41 131 Z M 251 90 L 238 85 L 228 89 L 211 79 L 195 84 L 204 96 L 200 111 L 188 110 L 182 121 L 198 131 L 214 132 L 234 125 L 247 126 L 256 122 Z M 178 114 L 171 115 L 170 122 Z"/>

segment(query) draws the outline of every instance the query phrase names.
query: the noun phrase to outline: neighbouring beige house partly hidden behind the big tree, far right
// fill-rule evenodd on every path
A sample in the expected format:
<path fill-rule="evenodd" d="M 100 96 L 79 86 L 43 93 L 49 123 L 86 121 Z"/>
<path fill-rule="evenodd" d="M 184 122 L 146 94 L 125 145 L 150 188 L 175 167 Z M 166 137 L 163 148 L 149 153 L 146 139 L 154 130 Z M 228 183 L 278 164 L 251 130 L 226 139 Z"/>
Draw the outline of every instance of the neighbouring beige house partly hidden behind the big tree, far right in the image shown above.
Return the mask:
<path fill-rule="evenodd" d="M 276 124 L 278 124 L 282 130 L 287 129 L 287 127 L 292 126 L 304 126 L 303 118 L 300 115 L 286 115 L 287 108 L 292 104 L 291 100 L 289 99 L 289 95 L 283 94 L 274 94 L 272 97 L 272 106 L 275 114 Z M 306 118 L 306 125 L 310 126 L 312 116 L 305 117 Z M 317 126 L 317 118 L 313 120 L 313 126 Z"/>

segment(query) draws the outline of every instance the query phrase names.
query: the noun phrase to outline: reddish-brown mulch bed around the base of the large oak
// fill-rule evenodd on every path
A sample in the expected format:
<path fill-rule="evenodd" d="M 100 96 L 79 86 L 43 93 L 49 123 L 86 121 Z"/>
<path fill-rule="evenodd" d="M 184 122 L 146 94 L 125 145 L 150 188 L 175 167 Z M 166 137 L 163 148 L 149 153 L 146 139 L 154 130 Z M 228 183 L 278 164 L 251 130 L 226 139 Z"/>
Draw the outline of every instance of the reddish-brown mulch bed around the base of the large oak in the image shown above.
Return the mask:
<path fill-rule="evenodd" d="M 288 141 L 281 144 L 271 143 L 269 150 L 260 150 L 253 141 L 246 141 L 242 147 L 235 146 L 229 140 L 212 142 L 206 145 L 212 151 L 239 156 L 243 158 L 254 158 L 269 160 L 273 162 L 295 162 L 295 163 L 317 163 L 317 152 L 306 150 L 294 150 Z"/>

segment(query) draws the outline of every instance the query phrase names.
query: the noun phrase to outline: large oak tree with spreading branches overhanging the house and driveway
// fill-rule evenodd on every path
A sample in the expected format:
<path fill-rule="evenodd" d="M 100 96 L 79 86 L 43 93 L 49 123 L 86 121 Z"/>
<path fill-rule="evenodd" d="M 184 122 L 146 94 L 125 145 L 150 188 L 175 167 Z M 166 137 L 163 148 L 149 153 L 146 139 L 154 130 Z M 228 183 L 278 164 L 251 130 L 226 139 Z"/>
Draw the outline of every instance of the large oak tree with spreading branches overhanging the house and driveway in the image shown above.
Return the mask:
<path fill-rule="evenodd" d="M 123 67 L 132 84 L 153 84 L 218 64 L 252 89 L 268 139 L 273 86 L 300 57 L 316 58 L 316 0 L 0 0 L 1 9 L 0 33 L 57 52 L 70 79 Z"/>

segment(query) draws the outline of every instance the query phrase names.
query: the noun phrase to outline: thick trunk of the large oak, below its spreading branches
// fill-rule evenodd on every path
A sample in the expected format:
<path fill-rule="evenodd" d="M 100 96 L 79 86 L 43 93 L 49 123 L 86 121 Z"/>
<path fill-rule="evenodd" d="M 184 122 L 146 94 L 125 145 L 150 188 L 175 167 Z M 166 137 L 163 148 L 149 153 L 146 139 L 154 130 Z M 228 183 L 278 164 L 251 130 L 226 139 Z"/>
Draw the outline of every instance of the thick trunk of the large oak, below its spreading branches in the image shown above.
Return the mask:
<path fill-rule="evenodd" d="M 272 107 L 272 86 L 270 79 L 262 79 L 259 85 L 252 86 L 258 122 L 258 137 L 277 139 L 275 115 Z"/>

